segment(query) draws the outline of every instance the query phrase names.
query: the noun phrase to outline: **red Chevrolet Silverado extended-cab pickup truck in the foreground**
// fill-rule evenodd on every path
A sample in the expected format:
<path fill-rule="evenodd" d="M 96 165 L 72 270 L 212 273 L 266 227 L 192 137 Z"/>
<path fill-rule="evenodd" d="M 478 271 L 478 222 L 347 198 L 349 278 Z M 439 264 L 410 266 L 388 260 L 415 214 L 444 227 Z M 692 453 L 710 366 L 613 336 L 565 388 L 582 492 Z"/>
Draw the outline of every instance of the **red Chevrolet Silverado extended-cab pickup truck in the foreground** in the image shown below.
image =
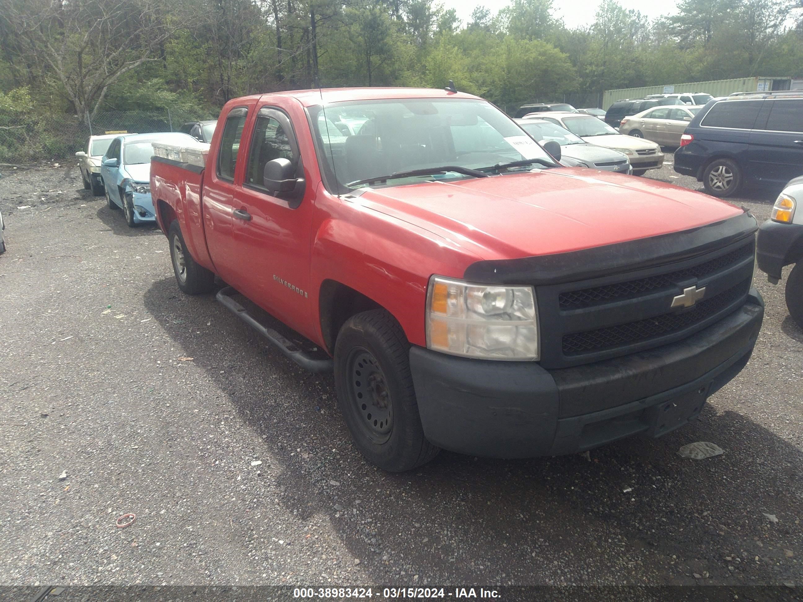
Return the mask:
<path fill-rule="evenodd" d="M 400 471 L 658 437 L 747 363 L 755 219 L 559 155 L 449 89 L 279 92 L 230 100 L 205 161 L 153 157 L 151 194 L 181 290 L 217 276 L 334 370 L 357 447 Z"/>

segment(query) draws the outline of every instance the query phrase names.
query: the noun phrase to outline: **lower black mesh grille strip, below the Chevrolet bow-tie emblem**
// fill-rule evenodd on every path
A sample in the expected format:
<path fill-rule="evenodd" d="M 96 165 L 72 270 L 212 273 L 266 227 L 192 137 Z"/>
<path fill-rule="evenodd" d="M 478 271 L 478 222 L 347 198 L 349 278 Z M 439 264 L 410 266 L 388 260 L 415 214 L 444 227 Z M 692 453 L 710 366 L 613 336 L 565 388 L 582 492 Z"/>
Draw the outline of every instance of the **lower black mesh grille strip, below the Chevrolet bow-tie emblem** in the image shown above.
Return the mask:
<path fill-rule="evenodd" d="M 671 335 L 724 310 L 743 297 L 749 287 L 750 283 L 745 280 L 711 299 L 703 299 L 687 311 L 672 312 L 657 315 L 654 318 L 641 319 L 638 322 L 565 335 L 563 337 L 563 353 L 565 356 L 574 356 L 606 348 L 623 347 L 658 336 Z"/>

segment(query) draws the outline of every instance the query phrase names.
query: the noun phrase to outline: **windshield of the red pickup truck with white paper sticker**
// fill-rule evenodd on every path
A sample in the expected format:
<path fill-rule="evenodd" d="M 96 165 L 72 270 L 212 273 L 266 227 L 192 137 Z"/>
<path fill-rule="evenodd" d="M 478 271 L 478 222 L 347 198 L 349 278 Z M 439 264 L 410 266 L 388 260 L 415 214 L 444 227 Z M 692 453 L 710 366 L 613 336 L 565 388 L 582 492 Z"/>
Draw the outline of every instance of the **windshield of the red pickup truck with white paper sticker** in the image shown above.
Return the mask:
<path fill-rule="evenodd" d="M 320 106 L 308 111 L 316 142 L 323 147 L 319 156 L 325 157 L 328 165 L 324 169 L 336 178 L 338 193 L 364 185 L 348 186 L 348 182 L 415 169 L 450 166 L 491 170 L 500 163 L 528 159 L 544 164 L 518 169 L 555 165 L 530 136 L 484 100 L 357 100 L 328 104 L 325 118 Z M 354 122 L 365 121 L 354 127 L 340 121 L 341 116 Z M 393 178 L 381 185 L 465 177 L 471 176 L 444 170 Z"/>

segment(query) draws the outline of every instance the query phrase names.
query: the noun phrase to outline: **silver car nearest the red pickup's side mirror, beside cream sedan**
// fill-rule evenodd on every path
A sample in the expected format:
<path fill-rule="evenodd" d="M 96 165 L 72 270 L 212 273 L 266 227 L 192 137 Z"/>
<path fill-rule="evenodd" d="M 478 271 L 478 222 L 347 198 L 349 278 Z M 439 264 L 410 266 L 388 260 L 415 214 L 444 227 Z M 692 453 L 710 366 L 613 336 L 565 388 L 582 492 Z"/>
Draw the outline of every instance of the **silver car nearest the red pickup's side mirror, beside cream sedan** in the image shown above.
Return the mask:
<path fill-rule="evenodd" d="M 630 161 L 625 153 L 597 146 L 583 140 L 560 125 L 543 119 L 517 119 L 516 123 L 541 144 L 555 140 L 560 144 L 560 162 L 570 167 L 590 167 L 609 172 L 631 173 Z M 565 161 L 566 159 L 572 161 Z"/>

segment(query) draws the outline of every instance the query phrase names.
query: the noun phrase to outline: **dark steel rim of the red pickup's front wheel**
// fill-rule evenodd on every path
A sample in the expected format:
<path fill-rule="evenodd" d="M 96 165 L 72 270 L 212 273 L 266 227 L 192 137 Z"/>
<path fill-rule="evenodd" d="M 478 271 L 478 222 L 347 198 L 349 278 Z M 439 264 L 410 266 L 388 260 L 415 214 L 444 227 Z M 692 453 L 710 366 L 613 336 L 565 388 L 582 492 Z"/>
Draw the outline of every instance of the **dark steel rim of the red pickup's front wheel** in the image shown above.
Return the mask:
<path fill-rule="evenodd" d="M 349 401 L 358 428 L 370 441 L 385 443 L 393 431 L 393 399 L 385 372 L 373 353 L 362 347 L 352 349 L 346 365 Z"/>

